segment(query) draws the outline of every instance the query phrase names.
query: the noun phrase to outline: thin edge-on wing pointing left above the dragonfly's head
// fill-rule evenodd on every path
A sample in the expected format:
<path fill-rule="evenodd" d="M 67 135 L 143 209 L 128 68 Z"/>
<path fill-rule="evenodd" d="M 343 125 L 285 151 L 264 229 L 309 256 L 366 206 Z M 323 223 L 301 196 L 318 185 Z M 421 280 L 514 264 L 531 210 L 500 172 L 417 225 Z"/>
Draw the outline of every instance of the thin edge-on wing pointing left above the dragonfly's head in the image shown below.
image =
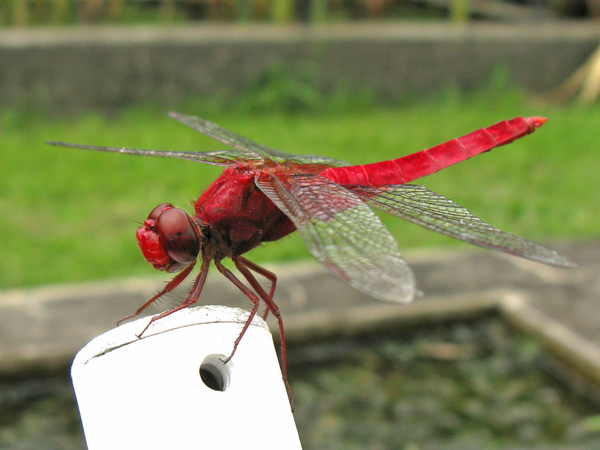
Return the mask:
<path fill-rule="evenodd" d="M 214 166 L 233 166 L 240 161 L 248 161 L 246 153 L 237 150 L 221 150 L 216 152 L 173 152 L 163 150 L 142 150 L 139 148 L 125 147 L 100 147 L 97 145 L 71 144 L 68 142 L 47 141 L 47 144 L 60 147 L 82 148 L 84 150 L 98 150 L 101 152 L 124 153 L 137 156 L 159 156 L 163 158 L 187 159 Z"/>

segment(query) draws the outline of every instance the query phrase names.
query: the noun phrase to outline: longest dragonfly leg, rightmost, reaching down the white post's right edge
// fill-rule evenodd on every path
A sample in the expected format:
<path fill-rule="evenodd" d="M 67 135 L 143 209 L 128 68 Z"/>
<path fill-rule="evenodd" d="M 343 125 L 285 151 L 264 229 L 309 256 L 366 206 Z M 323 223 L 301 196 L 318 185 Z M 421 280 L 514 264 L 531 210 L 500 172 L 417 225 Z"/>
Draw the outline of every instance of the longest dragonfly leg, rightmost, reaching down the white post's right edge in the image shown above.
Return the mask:
<path fill-rule="evenodd" d="M 260 267 L 259 265 L 248 261 L 246 258 L 241 256 L 233 257 L 233 262 L 235 263 L 235 267 L 241 272 L 241 274 L 248 280 L 248 283 L 252 286 L 252 288 L 256 291 L 256 293 L 263 299 L 263 301 L 267 304 L 267 310 L 271 311 L 273 315 L 277 318 L 277 323 L 279 324 L 279 335 L 281 336 L 281 362 L 283 369 L 283 382 L 285 383 L 285 388 L 288 393 L 288 397 L 290 399 L 290 404 L 292 406 L 292 411 L 294 410 L 294 398 L 292 397 L 292 390 L 290 388 L 290 384 L 288 382 L 287 377 L 287 351 L 285 346 L 285 332 L 283 330 L 283 319 L 281 318 L 281 313 L 279 312 L 279 307 L 273 301 L 273 293 L 275 292 L 275 282 L 277 277 L 274 273 L 269 272 L 267 269 Z M 271 280 L 271 291 L 270 295 L 263 289 L 258 280 L 252 275 L 249 269 L 254 270 L 255 272 L 267 277 Z"/>

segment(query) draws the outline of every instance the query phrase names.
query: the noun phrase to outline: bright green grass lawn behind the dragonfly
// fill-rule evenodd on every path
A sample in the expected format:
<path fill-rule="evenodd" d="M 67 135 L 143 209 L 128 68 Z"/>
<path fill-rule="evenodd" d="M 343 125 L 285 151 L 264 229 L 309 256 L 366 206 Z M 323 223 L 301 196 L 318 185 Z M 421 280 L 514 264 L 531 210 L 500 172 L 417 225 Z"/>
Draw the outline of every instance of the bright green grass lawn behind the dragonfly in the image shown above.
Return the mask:
<path fill-rule="evenodd" d="M 534 135 L 420 181 L 484 220 L 528 238 L 598 236 L 600 108 L 536 106 L 513 90 L 467 97 L 449 90 L 403 106 L 366 103 L 301 107 L 291 113 L 285 108 L 224 109 L 198 103 L 183 112 L 288 152 L 324 154 L 356 164 L 409 154 L 502 119 L 545 115 L 550 120 Z M 46 140 L 152 149 L 222 148 L 152 107 L 112 118 L 90 113 L 73 119 L 4 110 L 3 288 L 153 273 L 135 240 L 140 222 L 165 201 L 191 211 L 189 203 L 220 173 L 187 161 L 51 147 Z M 399 219 L 384 220 L 404 249 L 455 242 Z M 250 256 L 259 262 L 310 257 L 297 236 L 265 245 Z"/>

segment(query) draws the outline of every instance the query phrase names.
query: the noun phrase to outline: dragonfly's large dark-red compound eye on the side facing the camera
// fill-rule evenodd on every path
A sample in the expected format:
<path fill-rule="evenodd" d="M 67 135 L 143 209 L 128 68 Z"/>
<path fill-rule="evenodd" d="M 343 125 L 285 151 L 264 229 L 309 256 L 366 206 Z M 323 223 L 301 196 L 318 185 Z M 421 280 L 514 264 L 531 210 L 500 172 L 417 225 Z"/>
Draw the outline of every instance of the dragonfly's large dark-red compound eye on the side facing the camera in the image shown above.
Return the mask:
<path fill-rule="evenodd" d="M 200 252 L 200 244 L 191 217 L 169 203 L 157 206 L 150 215 L 160 207 L 163 209 L 156 219 L 156 229 L 165 251 L 180 264 L 194 262 Z"/>

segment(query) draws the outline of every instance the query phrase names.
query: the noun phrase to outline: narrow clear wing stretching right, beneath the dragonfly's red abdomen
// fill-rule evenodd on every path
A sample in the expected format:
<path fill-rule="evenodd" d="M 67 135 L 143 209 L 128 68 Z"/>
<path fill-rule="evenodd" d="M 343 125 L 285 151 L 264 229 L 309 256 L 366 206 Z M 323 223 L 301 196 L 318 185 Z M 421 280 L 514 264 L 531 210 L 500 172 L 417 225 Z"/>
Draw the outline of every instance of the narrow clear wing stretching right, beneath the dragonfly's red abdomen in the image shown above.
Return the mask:
<path fill-rule="evenodd" d="M 424 186 L 400 184 L 348 187 L 374 208 L 438 233 L 544 264 L 575 266 L 554 250 L 505 233 Z"/>

